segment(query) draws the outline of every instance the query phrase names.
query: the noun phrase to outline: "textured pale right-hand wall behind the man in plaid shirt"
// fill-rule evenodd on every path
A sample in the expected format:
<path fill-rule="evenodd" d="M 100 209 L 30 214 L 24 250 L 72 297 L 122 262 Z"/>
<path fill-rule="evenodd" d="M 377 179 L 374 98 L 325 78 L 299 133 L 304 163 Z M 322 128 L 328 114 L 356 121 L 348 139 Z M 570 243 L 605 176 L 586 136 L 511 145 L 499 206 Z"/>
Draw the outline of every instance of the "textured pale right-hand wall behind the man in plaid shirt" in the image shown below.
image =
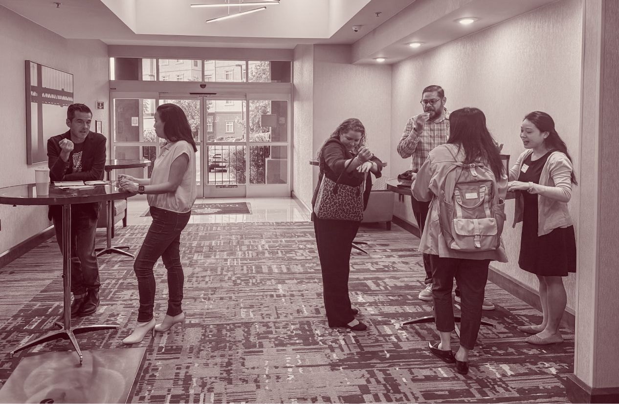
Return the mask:
<path fill-rule="evenodd" d="M 579 157 L 581 92 L 582 0 L 563 0 L 461 38 L 415 58 L 399 62 L 392 75 L 391 172 L 407 170 L 410 160 L 399 157 L 395 146 L 410 116 L 421 111 L 418 101 L 424 87 L 441 85 L 447 107 L 480 108 L 503 153 L 511 163 L 524 150 L 519 139 L 522 118 L 530 111 L 545 111 L 568 145 L 576 173 Z M 578 223 L 579 189 L 569 204 Z M 396 204 L 396 214 L 415 223 L 409 199 Z M 508 201 L 513 220 L 513 201 Z M 404 212 L 404 209 L 407 209 Z M 576 228 L 578 238 L 578 228 Z M 519 269 L 521 225 L 504 231 L 509 263 L 493 266 L 537 290 L 537 278 Z M 574 275 L 565 278 L 568 307 L 574 309 Z"/>

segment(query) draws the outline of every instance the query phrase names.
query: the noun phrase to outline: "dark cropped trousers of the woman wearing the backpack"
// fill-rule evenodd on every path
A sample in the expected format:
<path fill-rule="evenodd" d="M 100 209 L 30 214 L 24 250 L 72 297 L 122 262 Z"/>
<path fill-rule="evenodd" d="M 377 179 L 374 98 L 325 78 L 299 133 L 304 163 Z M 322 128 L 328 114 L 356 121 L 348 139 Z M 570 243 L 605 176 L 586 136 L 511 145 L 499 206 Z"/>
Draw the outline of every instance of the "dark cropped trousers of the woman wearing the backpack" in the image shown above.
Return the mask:
<path fill-rule="evenodd" d="M 460 286 L 462 299 L 460 345 L 472 350 L 482 322 L 483 290 L 488 279 L 490 260 L 440 258 L 435 255 L 431 255 L 430 259 L 436 329 L 441 332 L 452 332 L 456 327 L 454 306 L 451 301 L 455 277 Z"/>

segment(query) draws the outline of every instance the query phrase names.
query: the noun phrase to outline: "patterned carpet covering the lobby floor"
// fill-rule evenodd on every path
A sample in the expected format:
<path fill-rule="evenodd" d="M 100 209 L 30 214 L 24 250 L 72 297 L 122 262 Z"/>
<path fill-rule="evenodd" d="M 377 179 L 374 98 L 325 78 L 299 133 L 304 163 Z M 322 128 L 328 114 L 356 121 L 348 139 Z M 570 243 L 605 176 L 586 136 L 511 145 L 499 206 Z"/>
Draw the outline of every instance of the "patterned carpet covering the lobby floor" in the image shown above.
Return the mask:
<path fill-rule="evenodd" d="M 146 226 L 119 228 L 115 244 L 136 252 Z M 366 332 L 329 329 L 311 223 L 190 224 L 181 248 L 185 267 L 185 329 L 145 338 L 144 368 L 132 402 L 568 402 L 574 336 L 533 346 L 517 325 L 539 312 L 488 284 L 482 327 L 467 376 L 427 352 L 433 324 L 399 327 L 428 313 L 417 299 L 423 269 L 417 238 L 398 226 L 364 225 L 370 245 L 352 254 L 353 306 Z M 103 240 L 103 238 L 100 238 Z M 0 382 L 17 366 L 18 343 L 53 328 L 61 312 L 61 257 L 54 239 L 0 271 Z M 100 257 L 102 305 L 79 324 L 119 324 L 116 331 L 77 337 L 83 350 L 119 348 L 137 316 L 132 260 Z M 165 268 L 155 268 L 155 313 L 166 307 Z M 454 335 L 455 336 L 455 335 Z M 32 351 L 66 350 L 64 341 Z M 457 340 L 454 344 L 457 347 Z"/>

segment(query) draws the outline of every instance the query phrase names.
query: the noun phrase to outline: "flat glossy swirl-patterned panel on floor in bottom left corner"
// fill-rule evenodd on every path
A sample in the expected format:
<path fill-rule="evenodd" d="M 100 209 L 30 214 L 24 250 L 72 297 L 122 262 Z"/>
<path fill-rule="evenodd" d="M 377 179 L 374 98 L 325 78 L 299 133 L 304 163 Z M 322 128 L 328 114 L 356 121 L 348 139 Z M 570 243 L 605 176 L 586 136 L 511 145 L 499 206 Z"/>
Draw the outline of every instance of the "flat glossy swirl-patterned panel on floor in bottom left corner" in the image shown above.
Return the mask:
<path fill-rule="evenodd" d="M 0 390 L 0 403 L 128 403 L 146 348 L 84 351 L 76 366 L 71 351 L 23 358 Z"/>

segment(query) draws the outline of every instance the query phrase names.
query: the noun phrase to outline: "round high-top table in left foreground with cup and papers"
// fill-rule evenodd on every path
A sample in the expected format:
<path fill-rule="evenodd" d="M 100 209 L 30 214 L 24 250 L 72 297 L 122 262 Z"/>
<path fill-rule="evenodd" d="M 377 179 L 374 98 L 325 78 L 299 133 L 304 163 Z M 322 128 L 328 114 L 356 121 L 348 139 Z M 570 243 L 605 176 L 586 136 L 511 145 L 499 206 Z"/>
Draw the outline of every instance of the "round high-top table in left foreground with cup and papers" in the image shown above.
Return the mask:
<path fill-rule="evenodd" d="M 70 340 L 79 356 L 80 364 L 84 356 L 75 338 L 76 334 L 98 330 L 118 329 L 118 325 L 82 325 L 71 326 L 71 205 L 104 200 L 124 199 L 132 196 L 131 192 L 119 191 L 110 185 L 95 185 L 89 189 L 60 189 L 50 186 L 49 195 L 38 196 L 35 184 L 16 185 L 0 188 L 0 204 L 4 205 L 63 205 L 63 297 L 64 322 L 57 323 L 61 329 L 52 331 L 25 345 L 11 351 L 11 356 L 31 346 L 63 338 Z"/>

